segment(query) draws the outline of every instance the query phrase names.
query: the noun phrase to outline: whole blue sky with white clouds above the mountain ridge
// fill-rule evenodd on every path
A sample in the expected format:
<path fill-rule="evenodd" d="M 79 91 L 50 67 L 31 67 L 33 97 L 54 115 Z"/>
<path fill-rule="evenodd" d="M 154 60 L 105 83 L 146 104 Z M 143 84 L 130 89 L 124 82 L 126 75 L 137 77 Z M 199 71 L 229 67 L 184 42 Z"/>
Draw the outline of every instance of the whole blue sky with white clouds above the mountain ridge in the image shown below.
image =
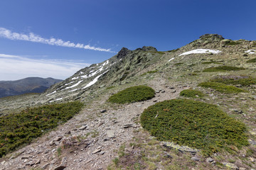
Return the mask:
<path fill-rule="evenodd" d="M 0 80 L 65 79 L 122 47 L 173 50 L 206 33 L 256 40 L 255 0 L 2 0 Z"/>

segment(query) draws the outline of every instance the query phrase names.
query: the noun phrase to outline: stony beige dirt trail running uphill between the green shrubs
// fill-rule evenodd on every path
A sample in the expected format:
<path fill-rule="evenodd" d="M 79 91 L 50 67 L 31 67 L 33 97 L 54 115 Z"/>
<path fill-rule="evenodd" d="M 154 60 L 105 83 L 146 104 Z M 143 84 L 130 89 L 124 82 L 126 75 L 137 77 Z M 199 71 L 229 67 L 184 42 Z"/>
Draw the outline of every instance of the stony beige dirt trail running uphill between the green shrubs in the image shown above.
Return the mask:
<path fill-rule="evenodd" d="M 64 125 L 38 138 L 31 145 L 2 160 L 0 170 L 7 169 L 107 169 L 117 150 L 134 137 L 136 123 L 145 108 L 156 102 L 176 98 L 184 86 L 166 84 L 164 79 L 148 82 L 156 96 L 149 101 L 127 104 L 100 113 L 108 96 L 95 101 Z M 168 86 L 169 85 L 169 86 Z"/>

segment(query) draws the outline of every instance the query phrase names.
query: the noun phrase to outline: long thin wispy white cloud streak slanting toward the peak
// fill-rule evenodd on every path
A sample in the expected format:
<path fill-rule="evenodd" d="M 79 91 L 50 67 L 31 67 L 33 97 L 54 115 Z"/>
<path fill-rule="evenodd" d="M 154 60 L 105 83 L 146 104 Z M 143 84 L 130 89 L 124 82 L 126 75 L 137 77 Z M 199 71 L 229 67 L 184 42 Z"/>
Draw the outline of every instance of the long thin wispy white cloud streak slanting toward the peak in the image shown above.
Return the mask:
<path fill-rule="evenodd" d="M 43 44 L 48 44 L 48 45 L 58 45 L 62 47 L 75 47 L 75 48 L 82 48 L 86 50 L 95 50 L 95 51 L 103 51 L 103 52 L 112 52 L 111 49 L 105 49 L 102 47 L 94 47 L 90 45 L 84 45 L 81 43 L 73 43 L 70 41 L 64 41 L 61 39 L 55 39 L 55 38 L 42 38 L 40 35 L 36 35 L 34 33 L 28 33 L 28 34 L 23 34 L 23 33 L 14 33 L 11 32 L 11 30 L 8 30 L 6 28 L 1 28 L 0 27 L 0 37 L 1 38 L 8 38 L 10 40 L 26 40 L 26 41 L 31 41 L 31 42 L 40 42 Z"/>

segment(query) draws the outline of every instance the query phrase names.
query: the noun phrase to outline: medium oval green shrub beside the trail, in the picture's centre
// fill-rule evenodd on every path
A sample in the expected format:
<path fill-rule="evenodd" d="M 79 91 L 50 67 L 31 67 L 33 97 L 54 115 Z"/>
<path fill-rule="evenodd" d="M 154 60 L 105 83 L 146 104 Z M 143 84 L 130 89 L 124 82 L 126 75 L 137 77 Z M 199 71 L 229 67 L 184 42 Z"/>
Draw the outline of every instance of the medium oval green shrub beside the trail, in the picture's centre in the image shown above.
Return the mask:
<path fill-rule="evenodd" d="M 154 97 L 154 89 L 149 86 L 132 86 L 108 99 L 111 103 L 133 103 L 137 101 L 146 101 Z"/>

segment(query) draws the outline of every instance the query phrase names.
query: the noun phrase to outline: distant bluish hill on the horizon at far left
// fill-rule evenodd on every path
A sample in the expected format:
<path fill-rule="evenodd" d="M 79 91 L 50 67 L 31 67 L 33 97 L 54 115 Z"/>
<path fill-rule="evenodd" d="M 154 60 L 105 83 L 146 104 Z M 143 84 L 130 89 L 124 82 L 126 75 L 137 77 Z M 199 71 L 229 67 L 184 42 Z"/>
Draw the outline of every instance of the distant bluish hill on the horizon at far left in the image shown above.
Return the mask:
<path fill-rule="evenodd" d="M 42 93 L 60 81 L 63 80 L 53 78 L 43 79 L 40 77 L 28 77 L 16 81 L 0 81 L 0 98 L 27 93 Z"/>

